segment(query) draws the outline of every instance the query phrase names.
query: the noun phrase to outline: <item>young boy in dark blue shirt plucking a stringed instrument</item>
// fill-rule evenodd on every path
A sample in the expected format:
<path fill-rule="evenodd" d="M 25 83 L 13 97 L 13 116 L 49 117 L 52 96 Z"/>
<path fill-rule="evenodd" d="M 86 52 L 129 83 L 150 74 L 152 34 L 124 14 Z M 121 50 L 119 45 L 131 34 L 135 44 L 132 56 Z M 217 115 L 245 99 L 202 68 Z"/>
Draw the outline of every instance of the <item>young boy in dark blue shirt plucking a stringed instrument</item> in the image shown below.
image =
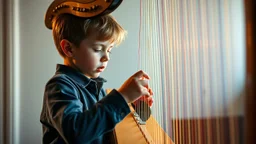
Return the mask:
<path fill-rule="evenodd" d="M 130 113 L 127 103 L 146 96 L 152 105 L 149 76 L 138 71 L 108 95 L 100 73 L 125 30 L 110 15 L 81 18 L 61 14 L 52 24 L 64 64 L 45 86 L 40 121 L 44 144 L 114 143 L 113 129 Z"/>

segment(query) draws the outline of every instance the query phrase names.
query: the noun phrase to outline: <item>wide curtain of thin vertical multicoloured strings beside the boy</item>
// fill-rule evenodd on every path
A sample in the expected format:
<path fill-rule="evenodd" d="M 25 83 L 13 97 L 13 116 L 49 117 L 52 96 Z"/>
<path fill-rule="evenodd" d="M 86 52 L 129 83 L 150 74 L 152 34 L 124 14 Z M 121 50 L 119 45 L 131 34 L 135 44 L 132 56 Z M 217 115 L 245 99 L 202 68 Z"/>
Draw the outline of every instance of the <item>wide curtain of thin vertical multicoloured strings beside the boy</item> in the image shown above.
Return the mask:
<path fill-rule="evenodd" d="M 238 2 L 140 0 L 138 67 L 151 76 L 152 115 L 175 143 L 241 142 L 230 104 L 238 91 L 231 19 Z"/>

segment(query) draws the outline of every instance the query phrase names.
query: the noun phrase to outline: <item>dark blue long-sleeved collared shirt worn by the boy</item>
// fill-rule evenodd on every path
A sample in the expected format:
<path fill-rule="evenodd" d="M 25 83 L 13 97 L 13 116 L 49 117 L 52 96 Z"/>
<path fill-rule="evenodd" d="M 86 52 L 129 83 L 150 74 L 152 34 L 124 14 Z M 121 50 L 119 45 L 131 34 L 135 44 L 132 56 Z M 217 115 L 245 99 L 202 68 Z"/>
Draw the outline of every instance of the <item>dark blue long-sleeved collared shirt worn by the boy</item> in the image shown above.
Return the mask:
<path fill-rule="evenodd" d="M 44 144 L 114 143 L 114 127 L 130 109 L 115 89 L 106 96 L 104 82 L 57 65 L 45 87 L 40 117 Z"/>

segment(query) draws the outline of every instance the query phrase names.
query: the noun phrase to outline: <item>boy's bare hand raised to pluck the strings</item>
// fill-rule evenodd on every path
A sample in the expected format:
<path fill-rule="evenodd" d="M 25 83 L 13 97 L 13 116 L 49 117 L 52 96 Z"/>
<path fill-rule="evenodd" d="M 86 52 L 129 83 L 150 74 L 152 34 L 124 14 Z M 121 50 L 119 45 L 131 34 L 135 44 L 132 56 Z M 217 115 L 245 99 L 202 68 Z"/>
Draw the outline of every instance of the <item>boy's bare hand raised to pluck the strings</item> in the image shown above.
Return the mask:
<path fill-rule="evenodd" d="M 141 96 L 150 97 L 152 91 L 148 87 L 149 79 L 149 76 L 140 70 L 126 80 L 118 89 L 118 92 L 124 97 L 127 103 L 134 102 Z"/>

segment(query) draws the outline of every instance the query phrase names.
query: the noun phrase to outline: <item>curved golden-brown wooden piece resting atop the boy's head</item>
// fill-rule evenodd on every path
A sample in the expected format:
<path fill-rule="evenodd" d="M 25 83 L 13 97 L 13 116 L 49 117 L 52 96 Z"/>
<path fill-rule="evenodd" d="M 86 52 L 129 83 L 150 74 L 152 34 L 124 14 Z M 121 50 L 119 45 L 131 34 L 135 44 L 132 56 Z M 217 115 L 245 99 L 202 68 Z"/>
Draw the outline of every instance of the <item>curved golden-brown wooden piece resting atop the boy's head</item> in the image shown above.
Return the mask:
<path fill-rule="evenodd" d="M 54 0 L 45 15 L 45 25 L 52 29 L 52 20 L 63 13 L 91 18 L 113 12 L 123 0 Z"/>

